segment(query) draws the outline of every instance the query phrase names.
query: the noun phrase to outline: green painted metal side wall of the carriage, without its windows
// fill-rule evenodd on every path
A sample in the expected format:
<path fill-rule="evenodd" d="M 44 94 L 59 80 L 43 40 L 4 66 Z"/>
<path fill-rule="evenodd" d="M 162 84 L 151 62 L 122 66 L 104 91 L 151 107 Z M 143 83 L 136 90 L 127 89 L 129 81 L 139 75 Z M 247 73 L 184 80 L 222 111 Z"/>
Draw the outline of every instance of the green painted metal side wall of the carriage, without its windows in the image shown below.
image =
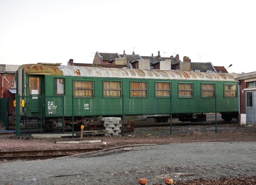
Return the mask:
<path fill-rule="evenodd" d="M 44 113 L 45 116 L 94 116 L 94 115 L 144 115 L 144 114 L 169 114 L 170 108 L 172 114 L 175 113 L 207 113 L 215 112 L 215 98 L 201 97 L 201 83 L 205 81 L 194 80 L 189 81 L 193 83 L 194 97 L 193 98 L 179 98 L 178 84 L 179 80 L 161 80 L 171 82 L 172 84 L 172 106 L 170 107 L 170 98 L 158 98 L 155 94 L 156 79 L 144 79 L 148 84 L 148 97 L 131 97 L 130 96 L 130 80 L 129 78 L 108 78 L 108 80 L 121 80 L 123 86 L 122 97 L 103 97 L 102 81 L 107 78 L 89 78 L 94 81 L 94 97 L 74 97 L 73 98 L 73 80 L 74 78 L 80 80 L 88 80 L 86 77 L 70 77 L 66 76 L 66 94 L 54 95 L 54 78 L 59 76 L 45 76 L 41 78 L 44 83 Z M 28 78 L 27 78 L 28 80 Z M 132 79 L 141 81 L 141 79 Z M 183 83 L 185 81 L 182 81 Z M 27 82 L 28 83 L 28 82 Z M 230 81 L 216 81 L 215 94 L 224 94 L 224 83 L 231 83 Z M 232 84 L 237 84 L 236 81 Z M 238 85 L 237 85 L 238 92 Z M 40 95 L 28 96 L 26 99 L 26 113 L 27 116 L 40 116 Z M 46 105 L 51 104 L 54 108 L 52 111 L 48 110 Z M 218 98 L 217 104 L 228 106 L 218 106 L 217 112 L 234 112 L 238 111 L 238 97 L 235 98 Z M 84 105 L 88 104 L 89 109 L 84 109 Z M 193 107 L 191 107 L 193 105 Z M 66 107 L 63 109 L 63 107 Z M 71 110 L 71 108 L 74 109 Z M 123 108 L 124 107 L 124 108 Z M 145 109 L 145 107 L 147 107 Z M 124 111 L 123 111 L 124 110 Z"/>

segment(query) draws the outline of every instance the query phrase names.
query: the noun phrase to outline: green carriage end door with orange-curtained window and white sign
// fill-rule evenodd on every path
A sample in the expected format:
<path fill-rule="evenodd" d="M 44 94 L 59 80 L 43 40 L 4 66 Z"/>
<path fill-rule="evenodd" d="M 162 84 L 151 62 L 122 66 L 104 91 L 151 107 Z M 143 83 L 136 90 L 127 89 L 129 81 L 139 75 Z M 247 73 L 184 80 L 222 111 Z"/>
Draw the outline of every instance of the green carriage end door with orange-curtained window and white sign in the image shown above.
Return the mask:
<path fill-rule="evenodd" d="M 30 116 L 39 116 L 42 110 L 40 107 L 42 98 L 41 81 L 40 76 L 29 77 L 27 113 L 30 113 Z"/>

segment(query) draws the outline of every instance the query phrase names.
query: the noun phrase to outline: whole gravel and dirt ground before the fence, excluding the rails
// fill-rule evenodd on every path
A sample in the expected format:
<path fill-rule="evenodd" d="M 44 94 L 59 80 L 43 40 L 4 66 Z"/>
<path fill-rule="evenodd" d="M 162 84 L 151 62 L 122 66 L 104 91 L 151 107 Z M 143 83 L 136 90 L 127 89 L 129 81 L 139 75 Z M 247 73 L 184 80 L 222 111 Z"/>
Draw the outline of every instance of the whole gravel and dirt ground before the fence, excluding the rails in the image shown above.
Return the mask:
<path fill-rule="evenodd" d="M 104 140 L 110 148 L 157 145 L 129 147 L 131 151 L 121 147 L 42 161 L 0 161 L 0 184 L 138 184 L 139 178 L 147 178 L 148 184 L 164 184 L 164 178 L 168 177 L 177 185 L 256 184 L 255 129 L 224 126 L 220 133 L 200 132 L 211 127 L 180 126 L 175 129 L 191 130 L 191 134 L 171 136 L 134 133 L 130 137 L 84 137 L 83 140 Z M 0 151 L 102 147 L 101 143 L 56 144 L 56 140 L 78 138 L 18 139 L 13 134 L 1 134 Z"/>

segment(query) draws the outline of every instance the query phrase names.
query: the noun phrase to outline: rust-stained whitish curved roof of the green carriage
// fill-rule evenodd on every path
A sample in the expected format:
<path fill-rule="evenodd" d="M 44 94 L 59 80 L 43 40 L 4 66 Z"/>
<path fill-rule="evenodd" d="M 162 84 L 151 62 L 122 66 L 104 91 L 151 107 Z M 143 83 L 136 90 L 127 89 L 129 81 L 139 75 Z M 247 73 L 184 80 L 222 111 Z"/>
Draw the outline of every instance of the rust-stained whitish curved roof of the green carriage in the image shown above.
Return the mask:
<path fill-rule="evenodd" d="M 177 80 L 212 80 L 234 81 L 238 77 L 235 73 L 210 73 L 174 70 L 143 70 L 120 69 L 102 67 L 65 66 L 60 64 L 24 64 L 23 68 L 28 75 L 56 75 L 78 77 L 104 77 L 104 78 L 152 78 Z"/>

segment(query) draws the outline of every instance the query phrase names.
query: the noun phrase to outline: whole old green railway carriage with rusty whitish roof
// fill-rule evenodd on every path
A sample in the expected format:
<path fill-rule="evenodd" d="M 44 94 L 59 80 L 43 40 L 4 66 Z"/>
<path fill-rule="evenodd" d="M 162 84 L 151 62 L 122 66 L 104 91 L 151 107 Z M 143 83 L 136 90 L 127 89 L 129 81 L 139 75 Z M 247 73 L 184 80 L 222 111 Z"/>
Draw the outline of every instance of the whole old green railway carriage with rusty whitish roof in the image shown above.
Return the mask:
<path fill-rule="evenodd" d="M 144 115 L 166 122 L 172 113 L 180 121 L 204 121 L 203 113 L 215 112 L 217 96 L 222 97 L 216 99 L 217 104 L 223 105 L 217 112 L 230 121 L 238 117 L 236 77 L 229 73 L 24 64 L 17 71 L 17 95 L 24 102 L 20 115 L 43 119 L 48 127 L 72 122 L 80 126 L 91 117 L 111 115 Z"/>

